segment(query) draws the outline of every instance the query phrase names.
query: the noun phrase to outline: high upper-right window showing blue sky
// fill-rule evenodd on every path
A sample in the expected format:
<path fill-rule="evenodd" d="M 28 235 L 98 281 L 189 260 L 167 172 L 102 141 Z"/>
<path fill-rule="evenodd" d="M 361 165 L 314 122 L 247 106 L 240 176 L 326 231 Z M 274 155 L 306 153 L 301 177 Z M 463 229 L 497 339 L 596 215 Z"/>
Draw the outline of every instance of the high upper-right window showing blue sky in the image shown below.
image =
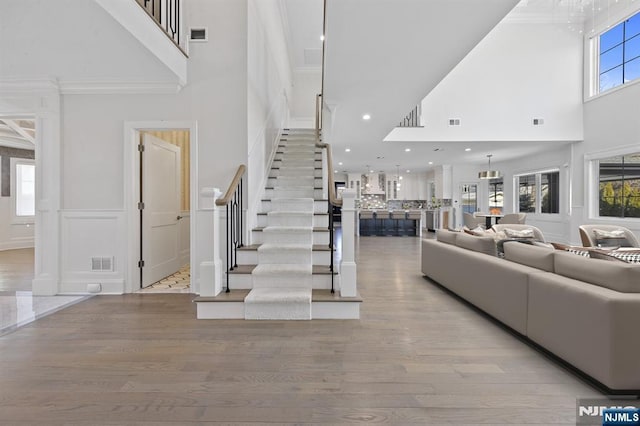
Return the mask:
<path fill-rule="evenodd" d="M 598 41 L 600 93 L 640 77 L 640 13 L 600 34 Z"/>

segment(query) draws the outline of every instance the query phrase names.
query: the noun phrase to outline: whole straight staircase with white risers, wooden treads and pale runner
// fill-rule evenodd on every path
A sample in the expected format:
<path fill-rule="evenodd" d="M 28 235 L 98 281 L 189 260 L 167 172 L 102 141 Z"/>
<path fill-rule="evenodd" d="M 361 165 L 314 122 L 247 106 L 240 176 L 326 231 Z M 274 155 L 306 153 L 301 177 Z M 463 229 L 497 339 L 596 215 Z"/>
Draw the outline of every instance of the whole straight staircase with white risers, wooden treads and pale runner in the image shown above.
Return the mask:
<path fill-rule="evenodd" d="M 238 248 L 229 293 L 197 297 L 200 319 L 360 317 L 362 299 L 340 295 L 332 270 L 322 148 L 311 129 L 285 130 L 271 165 L 251 243 Z M 221 226 L 222 227 L 222 226 Z M 331 289 L 335 287 L 335 293 Z"/>

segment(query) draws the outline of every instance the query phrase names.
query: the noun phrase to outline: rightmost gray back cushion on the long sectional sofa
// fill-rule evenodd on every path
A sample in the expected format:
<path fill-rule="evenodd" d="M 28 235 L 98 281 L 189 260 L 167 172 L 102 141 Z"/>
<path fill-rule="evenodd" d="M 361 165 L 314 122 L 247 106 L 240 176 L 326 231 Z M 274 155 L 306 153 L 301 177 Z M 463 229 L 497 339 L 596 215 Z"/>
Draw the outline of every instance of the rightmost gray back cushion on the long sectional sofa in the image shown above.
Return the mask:
<path fill-rule="evenodd" d="M 623 293 L 640 293 L 640 266 L 554 252 L 556 274 Z"/>

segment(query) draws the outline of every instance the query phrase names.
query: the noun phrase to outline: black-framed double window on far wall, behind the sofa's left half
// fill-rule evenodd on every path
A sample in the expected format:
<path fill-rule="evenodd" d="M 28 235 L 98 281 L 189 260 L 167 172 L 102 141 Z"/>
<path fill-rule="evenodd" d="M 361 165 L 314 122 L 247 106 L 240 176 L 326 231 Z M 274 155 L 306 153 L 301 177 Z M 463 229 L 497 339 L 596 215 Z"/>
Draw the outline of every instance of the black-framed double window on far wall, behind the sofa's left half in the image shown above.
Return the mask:
<path fill-rule="evenodd" d="M 517 211 L 560 213 L 560 172 L 557 170 L 516 176 Z"/>

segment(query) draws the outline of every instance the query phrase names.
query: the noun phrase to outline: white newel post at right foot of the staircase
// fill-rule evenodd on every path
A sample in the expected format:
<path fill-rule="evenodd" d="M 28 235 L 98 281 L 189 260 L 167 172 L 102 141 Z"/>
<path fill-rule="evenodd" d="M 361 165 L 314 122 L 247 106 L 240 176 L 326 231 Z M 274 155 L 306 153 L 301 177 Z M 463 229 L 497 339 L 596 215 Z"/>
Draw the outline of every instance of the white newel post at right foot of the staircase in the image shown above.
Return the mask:
<path fill-rule="evenodd" d="M 340 295 L 358 295 L 355 261 L 356 191 L 345 189 L 342 193 L 342 261 L 340 262 Z"/>

